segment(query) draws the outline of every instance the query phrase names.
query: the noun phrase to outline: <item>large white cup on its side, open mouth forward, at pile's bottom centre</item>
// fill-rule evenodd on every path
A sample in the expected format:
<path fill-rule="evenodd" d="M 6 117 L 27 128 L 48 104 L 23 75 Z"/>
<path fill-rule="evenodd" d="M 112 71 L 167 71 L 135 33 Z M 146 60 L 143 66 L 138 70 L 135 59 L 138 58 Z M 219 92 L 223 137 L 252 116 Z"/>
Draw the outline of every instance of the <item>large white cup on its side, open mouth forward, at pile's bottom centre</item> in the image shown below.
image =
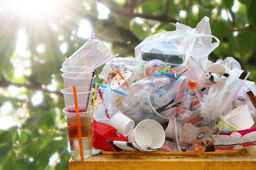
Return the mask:
<path fill-rule="evenodd" d="M 165 131 L 156 121 L 143 120 L 131 131 L 128 142 L 136 143 L 142 151 L 155 151 L 165 143 Z"/>

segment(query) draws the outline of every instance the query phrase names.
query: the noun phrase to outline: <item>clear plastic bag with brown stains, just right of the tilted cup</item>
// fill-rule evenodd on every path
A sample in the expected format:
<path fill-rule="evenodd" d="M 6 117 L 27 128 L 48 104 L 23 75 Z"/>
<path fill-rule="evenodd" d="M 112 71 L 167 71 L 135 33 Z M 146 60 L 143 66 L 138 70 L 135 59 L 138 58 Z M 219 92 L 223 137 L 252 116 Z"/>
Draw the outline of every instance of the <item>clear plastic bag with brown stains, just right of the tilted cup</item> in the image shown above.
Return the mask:
<path fill-rule="evenodd" d="M 134 73 L 138 65 L 139 63 L 135 58 L 116 57 L 105 64 L 98 76 L 110 84 L 112 79 L 116 76 L 116 74 L 118 74 L 116 71 L 117 69 L 120 72 L 131 71 Z"/>

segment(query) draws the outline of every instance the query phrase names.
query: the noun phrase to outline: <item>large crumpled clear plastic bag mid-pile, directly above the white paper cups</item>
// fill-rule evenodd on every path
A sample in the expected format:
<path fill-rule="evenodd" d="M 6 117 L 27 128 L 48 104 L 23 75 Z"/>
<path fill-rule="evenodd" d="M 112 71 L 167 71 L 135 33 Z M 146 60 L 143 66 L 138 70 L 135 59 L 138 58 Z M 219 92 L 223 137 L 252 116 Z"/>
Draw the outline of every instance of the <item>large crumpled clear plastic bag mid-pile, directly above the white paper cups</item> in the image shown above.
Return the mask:
<path fill-rule="evenodd" d="M 170 83 L 170 78 L 149 77 L 132 84 L 127 98 L 121 103 L 123 114 L 134 120 L 135 124 L 146 119 L 155 120 L 160 124 L 172 119 L 177 113 L 176 108 L 161 113 L 156 109 L 170 101 L 176 104 L 180 86 L 184 81 L 185 77 L 174 80 L 173 84 Z M 169 86 L 169 90 L 160 89 L 165 85 Z"/>

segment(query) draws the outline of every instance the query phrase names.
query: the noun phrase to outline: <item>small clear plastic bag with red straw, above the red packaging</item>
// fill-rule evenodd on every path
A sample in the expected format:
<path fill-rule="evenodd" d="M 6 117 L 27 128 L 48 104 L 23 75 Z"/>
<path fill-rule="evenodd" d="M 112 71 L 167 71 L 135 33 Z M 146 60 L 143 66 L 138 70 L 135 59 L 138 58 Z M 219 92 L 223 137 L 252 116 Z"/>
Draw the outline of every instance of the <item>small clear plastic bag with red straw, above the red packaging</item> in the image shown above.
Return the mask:
<path fill-rule="evenodd" d="M 111 92 L 111 88 L 109 85 L 107 88 L 105 88 L 102 98 L 103 100 L 101 100 L 99 107 L 94 113 L 94 119 L 97 122 L 108 124 L 111 117 L 119 111 L 117 109 L 116 98 L 114 97 L 114 94 Z M 106 116 L 106 109 L 108 111 L 110 119 Z"/>

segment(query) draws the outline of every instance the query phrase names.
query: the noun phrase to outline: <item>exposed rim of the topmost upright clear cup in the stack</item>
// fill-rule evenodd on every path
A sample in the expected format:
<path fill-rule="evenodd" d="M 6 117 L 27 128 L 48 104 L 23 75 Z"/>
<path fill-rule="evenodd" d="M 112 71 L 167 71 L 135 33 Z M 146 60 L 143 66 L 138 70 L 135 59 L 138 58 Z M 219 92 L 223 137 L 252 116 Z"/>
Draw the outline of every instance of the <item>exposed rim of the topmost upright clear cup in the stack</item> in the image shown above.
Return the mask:
<path fill-rule="evenodd" d="M 89 78 L 92 74 L 91 72 L 87 72 L 87 70 L 94 72 L 93 69 L 84 66 L 67 66 L 60 69 L 66 77 L 70 78 Z"/>

